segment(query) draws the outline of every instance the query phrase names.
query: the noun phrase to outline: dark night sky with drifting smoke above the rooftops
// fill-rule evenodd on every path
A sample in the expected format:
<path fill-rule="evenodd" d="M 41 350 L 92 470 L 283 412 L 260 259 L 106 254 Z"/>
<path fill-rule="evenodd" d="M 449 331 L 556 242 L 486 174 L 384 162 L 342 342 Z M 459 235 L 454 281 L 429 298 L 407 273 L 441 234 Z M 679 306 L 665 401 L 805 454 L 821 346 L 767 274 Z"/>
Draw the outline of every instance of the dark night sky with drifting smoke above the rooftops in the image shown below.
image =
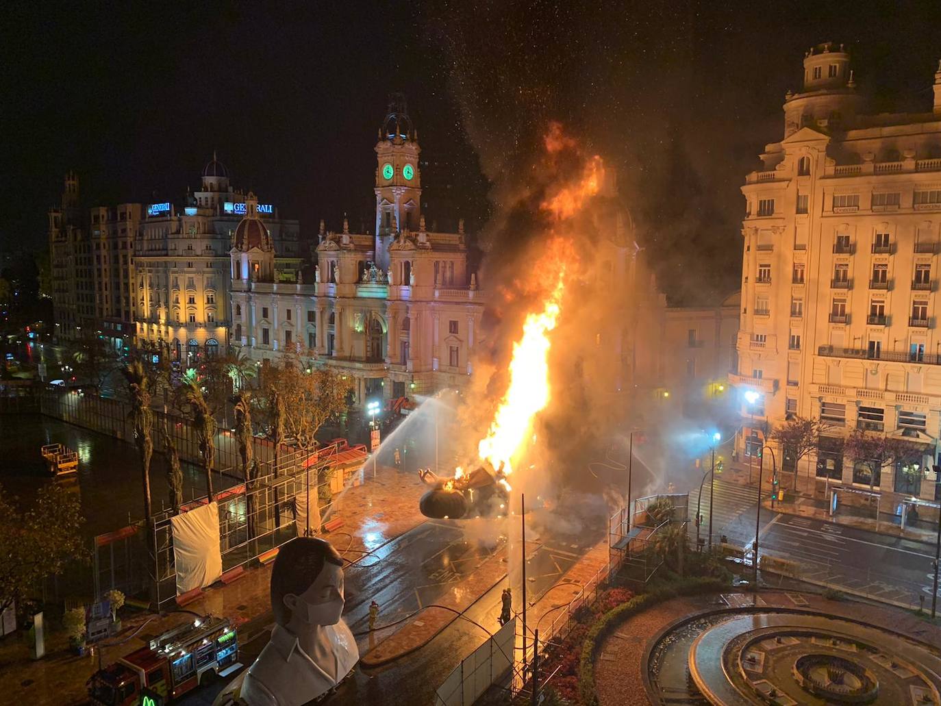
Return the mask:
<path fill-rule="evenodd" d="M 161 4 L 162 5 L 162 4 Z M 0 249 L 85 205 L 181 202 L 217 150 L 316 232 L 369 227 L 376 130 L 407 94 L 430 220 L 480 228 L 562 120 L 619 170 L 669 294 L 737 287 L 744 173 L 812 44 L 845 42 L 872 112 L 930 110 L 937 2 L 17 4 L 0 28 Z"/>

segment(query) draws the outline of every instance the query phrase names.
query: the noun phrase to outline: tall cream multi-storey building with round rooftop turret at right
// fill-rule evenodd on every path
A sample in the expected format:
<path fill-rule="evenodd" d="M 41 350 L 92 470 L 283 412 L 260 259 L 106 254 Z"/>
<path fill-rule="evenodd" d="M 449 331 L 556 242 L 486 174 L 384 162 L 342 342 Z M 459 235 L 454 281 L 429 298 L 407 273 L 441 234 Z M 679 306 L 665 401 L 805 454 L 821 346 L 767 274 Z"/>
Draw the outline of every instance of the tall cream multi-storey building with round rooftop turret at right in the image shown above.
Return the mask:
<path fill-rule="evenodd" d="M 757 462 L 766 423 L 820 419 L 830 430 L 801 469 L 819 487 L 899 493 L 893 507 L 937 499 L 941 68 L 932 110 L 867 115 L 849 54 L 822 44 L 783 127 L 742 186 L 740 454 Z M 852 428 L 920 443 L 923 457 L 873 478 L 844 463 Z"/>

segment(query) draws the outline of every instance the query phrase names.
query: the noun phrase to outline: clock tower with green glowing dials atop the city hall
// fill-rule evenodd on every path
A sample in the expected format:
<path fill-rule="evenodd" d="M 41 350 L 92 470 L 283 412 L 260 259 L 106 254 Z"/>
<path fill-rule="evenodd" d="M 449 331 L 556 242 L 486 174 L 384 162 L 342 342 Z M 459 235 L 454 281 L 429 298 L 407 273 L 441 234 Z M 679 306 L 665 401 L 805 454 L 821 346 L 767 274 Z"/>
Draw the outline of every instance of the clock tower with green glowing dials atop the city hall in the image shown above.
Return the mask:
<path fill-rule="evenodd" d="M 422 173 L 418 133 L 408 117 L 402 93 L 392 93 L 386 120 L 375 143 L 376 265 L 389 265 L 388 246 L 396 233 L 419 227 Z"/>

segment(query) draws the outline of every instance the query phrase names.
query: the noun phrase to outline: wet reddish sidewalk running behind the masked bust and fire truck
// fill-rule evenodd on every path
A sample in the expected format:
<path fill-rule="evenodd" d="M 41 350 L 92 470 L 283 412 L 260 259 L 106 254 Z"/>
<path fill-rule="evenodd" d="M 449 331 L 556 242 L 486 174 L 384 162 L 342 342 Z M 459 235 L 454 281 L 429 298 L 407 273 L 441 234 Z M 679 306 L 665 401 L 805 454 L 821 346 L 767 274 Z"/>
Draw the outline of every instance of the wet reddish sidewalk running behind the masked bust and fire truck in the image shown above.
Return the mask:
<path fill-rule="evenodd" d="M 424 487 L 412 473 L 379 467 L 378 477 L 372 478 L 372 468 L 362 485 L 347 489 L 337 498 L 335 517 L 343 519 L 343 526 L 324 535 L 337 551 L 351 562 L 358 561 L 366 552 L 396 538 L 423 521 L 418 511 L 418 500 Z M 261 630 L 270 622 L 270 579 L 272 564 L 247 570 L 245 575 L 229 586 L 215 584 L 206 589 L 199 600 L 189 603 L 185 610 L 199 615 L 211 613 L 230 618 L 238 626 L 250 620 L 252 632 Z M 125 609 L 123 630 L 117 639 L 127 639 L 122 645 L 105 647 L 102 664 L 108 665 L 121 656 L 143 647 L 156 634 L 193 619 L 187 613 L 131 613 Z M 150 621 L 149 621 L 150 620 Z M 46 656 L 33 661 L 29 657 L 21 633 L 0 640 L 0 706 L 71 706 L 85 704 L 88 696 L 85 682 L 98 669 L 99 650 L 89 650 L 86 657 L 75 657 L 68 650 L 68 638 L 55 621 L 46 619 Z M 239 643 L 246 644 L 254 635 L 239 634 Z M 105 640 L 115 642 L 116 638 Z"/>

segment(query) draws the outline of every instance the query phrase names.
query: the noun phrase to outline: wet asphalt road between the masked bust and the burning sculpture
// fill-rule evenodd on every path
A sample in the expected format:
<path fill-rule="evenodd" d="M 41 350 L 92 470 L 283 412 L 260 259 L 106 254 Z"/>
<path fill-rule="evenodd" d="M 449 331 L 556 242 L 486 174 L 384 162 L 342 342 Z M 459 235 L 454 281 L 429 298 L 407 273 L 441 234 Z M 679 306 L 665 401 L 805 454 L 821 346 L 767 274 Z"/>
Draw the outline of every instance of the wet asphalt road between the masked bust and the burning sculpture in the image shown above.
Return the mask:
<path fill-rule="evenodd" d="M 516 519 L 515 521 L 518 521 Z M 473 523 L 471 523 L 473 522 Z M 457 618 L 421 649 L 389 666 L 370 673 L 357 670 L 353 678 L 344 682 L 327 700 L 329 704 L 427 704 L 434 702 L 436 688 L 452 669 L 485 639 L 499 628 L 497 617 L 501 608 L 501 591 L 505 578 L 496 586 L 486 586 L 480 592 L 466 590 L 476 570 L 489 562 L 502 565 L 495 575 L 505 577 L 507 555 L 505 541 L 479 539 L 479 521 L 425 521 L 410 532 L 391 540 L 359 565 L 346 569 L 348 592 L 343 618 L 354 634 L 367 631 L 369 602 L 375 597 L 382 607 L 379 624 L 405 617 L 419 607 L 439 602 L 447 595 L 460 596 L 467 607 L 464 615 L 470 620 Z M 492 521 L 499 522 L 499 521 Z M 537 538 L 536 531 L 527 521 L 527 544 L 531 554 L 527 561 L 528 601 L 534 602 L 554 586 L 575 560 L 603 535 L 604 526 L 580 527 L 578 532 L 560 534 L 554 538 Z M 494 529 L 499 533 L 496 525 Z M 535 539 L 534 539 L 535 538 Z M 493 569 L 488 567 L 488 569 Z M 489 573 L 489 572 L 488 572 Z M 512 589 L 518 608 L 522 586 L 517 571 L 511 577 Z M 270 626 L 271 616 L 253 621 L 259 626 Z M 483 629 L 482 629 L 483 628 Z M 243 646 L 242 662 L 250 664 L 267 641 L 267 630 L 250 644 Z M 370 649 L 368 636 L 358 636 L 360 653 Z M 209 687 L 183 698 L 187 706 L 207 706 L 221 688 Z"/>

